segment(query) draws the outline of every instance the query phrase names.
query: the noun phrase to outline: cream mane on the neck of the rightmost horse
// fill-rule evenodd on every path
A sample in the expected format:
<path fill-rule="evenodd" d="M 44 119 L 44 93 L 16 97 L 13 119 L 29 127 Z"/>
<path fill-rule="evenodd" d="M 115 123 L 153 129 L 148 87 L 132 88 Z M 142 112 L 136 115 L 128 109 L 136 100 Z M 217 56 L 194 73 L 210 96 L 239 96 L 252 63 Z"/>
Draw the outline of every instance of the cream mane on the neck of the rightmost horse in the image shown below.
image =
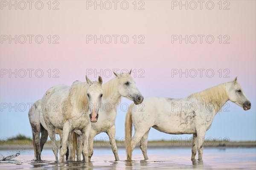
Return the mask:
<path fill-rule="evenodd" d="M 225 83 L 216 85 L 212 88 L 207 88 L 204 91 L 187 96 L 188 99 L 194 98 L 204 104 L 211 103 L 217 113 L 222 106 L 228 101 L 228 94 L 225 88 Z"/>

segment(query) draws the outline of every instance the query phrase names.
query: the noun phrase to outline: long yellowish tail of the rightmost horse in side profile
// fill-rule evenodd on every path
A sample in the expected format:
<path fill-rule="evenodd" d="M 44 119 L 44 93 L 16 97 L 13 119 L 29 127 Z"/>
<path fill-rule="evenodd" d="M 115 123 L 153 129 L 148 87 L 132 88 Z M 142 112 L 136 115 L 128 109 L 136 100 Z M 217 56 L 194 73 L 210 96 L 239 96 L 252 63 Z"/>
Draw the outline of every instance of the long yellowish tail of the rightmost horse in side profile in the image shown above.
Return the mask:
<path fill-rule="evenodd" d="M 126 143 L 126 154 L 127 160 L 131 160 L 132 150 L 131 150 L 131 133 L 132 133 L 132 120 L 131 112 L 134 103 L 132 103 L 125 116 L 125 143 Z"/>

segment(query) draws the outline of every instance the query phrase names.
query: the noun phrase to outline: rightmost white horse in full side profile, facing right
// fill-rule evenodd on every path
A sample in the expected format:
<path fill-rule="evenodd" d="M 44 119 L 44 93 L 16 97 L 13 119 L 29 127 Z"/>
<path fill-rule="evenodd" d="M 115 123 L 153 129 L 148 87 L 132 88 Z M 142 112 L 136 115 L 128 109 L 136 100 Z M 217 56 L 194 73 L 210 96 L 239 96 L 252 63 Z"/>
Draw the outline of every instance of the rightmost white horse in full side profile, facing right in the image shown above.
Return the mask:
<path fill-rule="evenodd" d="M 228 100 L 245 111 L 251 107 L 236 79 L 191 94 L 184 99 L 146 98 L 143 102 L 143 112 L 134 111 L 131 105 L 125 118 L 127 160 L 131 160 L 132 150 L 139 142 L 144 158 L 148 159 L 147 143 L 151 127 L 169 134 L 193 134 L 191 159 L 195 160 L 198 150 L 198 159 L 201 160 L 204 136 L 221 107 Z M 131 139 L 132 124 L 135 132 Z"/>

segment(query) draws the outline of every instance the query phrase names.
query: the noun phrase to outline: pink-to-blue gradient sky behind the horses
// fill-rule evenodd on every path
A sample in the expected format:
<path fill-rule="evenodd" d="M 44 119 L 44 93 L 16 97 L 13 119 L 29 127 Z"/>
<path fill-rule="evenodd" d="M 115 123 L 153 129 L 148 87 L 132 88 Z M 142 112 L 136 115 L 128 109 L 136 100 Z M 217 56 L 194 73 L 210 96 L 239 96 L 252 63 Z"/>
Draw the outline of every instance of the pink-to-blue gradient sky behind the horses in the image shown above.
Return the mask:
<path fill-rule="evenodd" d="M 48 1 L 42 2 L 44 7 L 41 10 L 37 9 L 40 4 L 35 8 L 34 3 L 31 10 L 29 4 L 26 4 L 24 10 L 20 9 L 23 8 L 23 4 L 17 4 L 15 10 L 15 7 L 11 6 L 9 9 L 9 4 L 6 6 L 1 1 L 1 138 L 15 136 L 18 133 L 32 136 L 27 103 L 40 99 L 49 87 L 57 84 L 71 85 L 77 79 L 85 81 L 88 69 L 102 69 L 103 73 L 106 69 L 133 69 L 132 75 L 144 97 L 182 98 L 238 76 L 238 81 L 250 99 L 252 108 L 244 111 L 238 105 L 228 102 L 228 111 L 215 116 L 206 137 L 228 137 L 232 141 L 256 140 L 255 1 L 229 0 L 229 3 L 221 4 L 221 9 L 217 4 L 219 1 L 212 1 L 214 7 L 211 10 L 207 9 L 211 4 L 206 6 L 206 3 L 202 4 L 202 9 L 198 3 L 197 8 L 192 10 L 194 4 L 189 6 L 190 1 L 187 10 L 184 6 L 181 6 L 181 9 L 179 5 L 172 6 L 173 3 L 180 1 L 143 1 L 144 3 L 137 3 L 136 10 L 133 1 L 127 1 L 127 10 L 120 7 L 122 1 L 117 4 L 116 10 L 114 3 L 109 10 L 105 9 L 108 8 L 108 4 L 103 4 L 102 10 L 96 6 L 95 10 L 94 6 L 87 6 L 87 1 L 80 0 L 57 1 L 58 3 L 51 4 L 49 10 Z M 56 5 L 59 9 L 52 10 Z M 125 4 L 122 5 L 125 8 Z M 138 10 L 139 6 L 144 10 Z M 224 10 L 224 7 L 229 9 Z M 20 36 L 17 38 L 17 44 L 15 40 L 9 43 L 9 39 L 5 40 L 9 35 L 24 35 L 26 42 L 20 43 L 24 41 L 23 36 Z M 31 43 L 27 35 L 33 36 Z M 44 38 L 41 44 L 35 41 L 37 35 Z M 87 43 L 88 35 L 96 35 L 98 38 L 100 35 L 110 35 L 112 42 L 105 43 L 109 41 L 107 36 L 102 44 L 100 40 L 96 43 L 93 40 Z M 116 43 L 112 35 L 119 35 Z M 129 38 L 128 43 L 121 42 L 122 35 Z M 136 43 L 134 35 L 137 37 Z M 139 37 L 140 35 L 142 36 Z M 183 38 L 188 35 L 188 43 L 186 40 L 182 40 L 181 43 L 179 40 L 173 40 L 176 35 Z M 198 35 L 203 37 L 202 43 Z M 214 41 L 207 42 L 207 36 L 209 41 L 211 37 Z M 53 44 L 57 37 L 59 43 Z M 193 44 L 195 37 L 197 42 Z M 139 44 L 139 40 L 144 43 Z M 4 74 L 6 70 L 14 72 L 15 69 L 17 77 L 15 74 Z M 22 69 L 26 70 L 24 78 Z M 27 69 L 34 69 L 31 77 Z M 179 72 L 188 69 L 191 74 L 192 69 L 205 70 L 201 77 L 198 71 L 197 76 L 193 78 L 194 74 L 187 77 L 185 74 L 172 75 L 174 69 Z M 39 78 L 41 71 L 44 75 Z M 213 71 L 212 77 L 209 71 Z M 142 73 L 143 77 L 139 77 Z M 57 74 L 55 76 L 58 78 L 54 78 L 54 74 Z M 88 76 L 94 80 L 98 75 Z M 113 74 L 110 78 L 104 74 L 101 76 L 103 82 L 114 77 Z M 122 102 L 131 103 L 124 98 Z M 16 103 L 17 111 L 11 107 L 3 108 L 5 103 L 9 106 L 15 106 Z M 26 105 L 26 108 L 23 108 L 23 105 Z M 119 109 L 116 117 L 116 137 L 119 139 L 124 136 L 124 122 L 125 112 Z M 106 135 L 101 133 L 96 137 L 100 139 Z M 191 135 L 169 135 L 152 128 L 149 133 L 149 140 L 172 140 L 172 137 L 186 139 Z"/>

